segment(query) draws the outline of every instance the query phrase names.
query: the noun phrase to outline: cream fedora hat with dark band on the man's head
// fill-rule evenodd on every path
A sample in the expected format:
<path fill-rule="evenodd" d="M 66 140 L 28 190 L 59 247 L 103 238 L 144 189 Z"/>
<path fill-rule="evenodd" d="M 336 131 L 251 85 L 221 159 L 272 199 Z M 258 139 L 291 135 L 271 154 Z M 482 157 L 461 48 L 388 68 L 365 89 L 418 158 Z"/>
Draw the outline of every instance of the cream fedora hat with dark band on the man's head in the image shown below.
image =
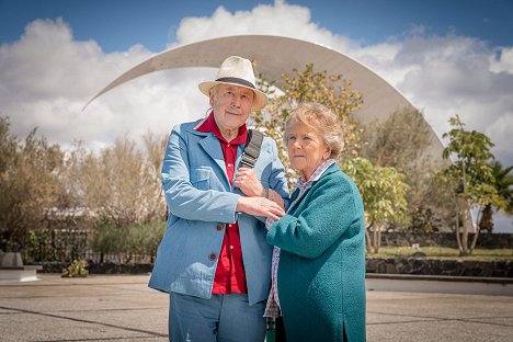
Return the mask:
<path fill-rule="evenodd" d="M 233 84 L 252 90 L 254 93 L 253 110 L 260 110 L 267 103 L 267 96 L 254 86 L 253 66 L 249 59 L 239 56 L 226 58 L 217 71 L 216 80 L 201 82 L 198 88 L 202 93 L 210 96 L 210 89 L 216 84 Z"/>

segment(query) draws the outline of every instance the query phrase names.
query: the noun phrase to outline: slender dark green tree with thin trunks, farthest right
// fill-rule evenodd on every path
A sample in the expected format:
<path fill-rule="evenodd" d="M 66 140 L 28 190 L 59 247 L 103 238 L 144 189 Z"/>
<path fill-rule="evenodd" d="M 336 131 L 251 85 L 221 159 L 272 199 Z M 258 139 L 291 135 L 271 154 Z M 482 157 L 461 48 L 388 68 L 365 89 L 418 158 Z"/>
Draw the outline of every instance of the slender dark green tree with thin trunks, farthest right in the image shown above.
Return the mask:
<path fill-rule="evenodd" d="M 456 240 L 461 256 L 471 254 L 479 236 L 479 227 L 469 246 L 469 224 L 474 226 L 471 209 L 490 204 L 503 207 L 504 201 L 498 195 L 493 184 L 492 168 L 488 163 L 493 159 L 490 149 L 493 142 L 489 137 L 477 130 L 466 130 L 459 116 L 451 117 L 453 127 L 443 135 L 448 138 L 444 149 L 445 159 L 453 158 L 453 163 L 442 170 L 442 179 L 452 191 L 458 216 L 456 217 Z M 461 227 L 460 227 L 461 224 Z"/>

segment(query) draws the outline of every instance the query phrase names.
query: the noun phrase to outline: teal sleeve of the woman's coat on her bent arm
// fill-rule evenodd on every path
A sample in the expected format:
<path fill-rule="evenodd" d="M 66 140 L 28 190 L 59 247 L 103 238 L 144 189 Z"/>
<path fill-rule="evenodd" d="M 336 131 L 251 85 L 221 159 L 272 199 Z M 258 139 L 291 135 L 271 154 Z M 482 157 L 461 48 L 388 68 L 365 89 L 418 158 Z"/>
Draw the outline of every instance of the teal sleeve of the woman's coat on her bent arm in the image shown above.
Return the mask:
<path fill-rule="evenodd" d="M 304 258 L 317 258 L 329 249 L 352 225 L 358 212 L 352 186 L 343 178 L 320 179 L 310 190 L 310 202 L 301 212 L 275 221 L 267 242 Z M 305 204 L 301 204 L 304 206 Z"/>

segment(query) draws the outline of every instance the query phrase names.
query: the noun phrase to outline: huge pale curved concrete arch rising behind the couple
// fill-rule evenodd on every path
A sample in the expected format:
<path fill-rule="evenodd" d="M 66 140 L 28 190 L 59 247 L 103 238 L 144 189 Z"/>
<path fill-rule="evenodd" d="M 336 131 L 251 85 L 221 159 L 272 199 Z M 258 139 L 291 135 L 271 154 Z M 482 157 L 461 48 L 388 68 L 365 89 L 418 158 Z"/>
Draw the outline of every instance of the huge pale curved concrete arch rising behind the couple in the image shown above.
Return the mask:
<path fill-rule="evenodd" d="M 330 75 L 342 75 L 352 81 L 352 89 L 363 95 L 364 103 L 355 112 L 362 124 L 383 119 L 400 109 L 413 107 L 397 89 L 351 57 L 316 43 L 271 35 L 227 36 L 171 48 L 126 71 L 91 101 L 150 72 L 187 67 L 218 68 L 223 60 L 231 55 L 255 61 L 256 71 L 262 72 L 267 80 L 280 81 L 282 73 L 292 75 L 294 69 L 303 70 L 307 64 L 314 64 L 315 70 L 318 71 L 327 70 Z M 281 83 L 276 86 L 280 87 Z M 429 153 L 434 160 L 440 160 L 444 146 L 433 129 L 431 133 L 432 146 Z"/>

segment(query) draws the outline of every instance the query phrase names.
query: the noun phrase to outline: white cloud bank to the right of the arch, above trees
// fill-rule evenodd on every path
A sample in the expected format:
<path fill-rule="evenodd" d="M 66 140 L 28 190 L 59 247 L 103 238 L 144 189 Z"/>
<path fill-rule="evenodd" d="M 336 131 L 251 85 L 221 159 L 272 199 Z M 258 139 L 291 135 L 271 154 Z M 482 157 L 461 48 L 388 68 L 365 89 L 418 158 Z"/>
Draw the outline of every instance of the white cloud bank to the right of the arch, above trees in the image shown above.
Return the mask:
<path fill-rule="evenodd" d="M 438 136 L 458 114 L 468 129 L 492 139 L 498 159 L 513 164 L 512 50 L 503 48 L 497 59 L 495 49 L 476 38 L 414 34 L 352 54 L 421 109 Z"/>

